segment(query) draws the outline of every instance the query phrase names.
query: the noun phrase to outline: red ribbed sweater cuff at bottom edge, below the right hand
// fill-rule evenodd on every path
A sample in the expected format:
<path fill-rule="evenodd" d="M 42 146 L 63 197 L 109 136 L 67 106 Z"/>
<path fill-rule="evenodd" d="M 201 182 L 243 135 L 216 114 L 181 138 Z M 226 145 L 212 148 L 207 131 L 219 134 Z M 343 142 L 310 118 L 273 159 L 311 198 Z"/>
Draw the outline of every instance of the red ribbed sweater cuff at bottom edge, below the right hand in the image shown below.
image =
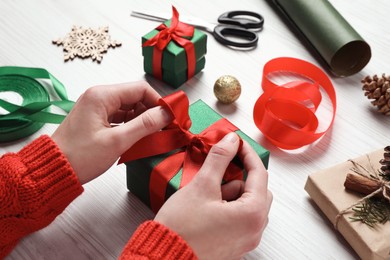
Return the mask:
<path fill-rule="evenodd" d="M 134 232 L 120 259 L 197 259 L 197 257 L 178 234 L 156 221 L 147 221 Z"/>

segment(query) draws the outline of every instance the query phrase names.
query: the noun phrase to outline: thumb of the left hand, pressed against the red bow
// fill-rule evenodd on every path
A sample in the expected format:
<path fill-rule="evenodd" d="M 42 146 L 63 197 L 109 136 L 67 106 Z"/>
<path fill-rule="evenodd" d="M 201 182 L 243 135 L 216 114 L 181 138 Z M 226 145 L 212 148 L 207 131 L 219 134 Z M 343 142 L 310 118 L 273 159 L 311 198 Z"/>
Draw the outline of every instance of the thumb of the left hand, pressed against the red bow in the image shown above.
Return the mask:
<path fill-rule="evenodd" d="M 123 125 L 112 128 L 111 133 L 119 137 L 121 150 L 124 152 L 141 138 L 167 126 L 172 119 L 172 115 L 167 110 L 158 106 L 146 110 Z"/>

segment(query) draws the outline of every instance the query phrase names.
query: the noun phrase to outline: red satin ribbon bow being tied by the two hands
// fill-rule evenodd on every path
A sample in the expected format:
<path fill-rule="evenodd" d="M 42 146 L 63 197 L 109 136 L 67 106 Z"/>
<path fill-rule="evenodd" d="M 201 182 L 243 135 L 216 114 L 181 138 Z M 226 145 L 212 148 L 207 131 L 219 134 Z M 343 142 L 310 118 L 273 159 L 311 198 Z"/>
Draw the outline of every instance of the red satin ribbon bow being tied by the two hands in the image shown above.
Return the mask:
<path fill-rule="evenodd" d="M 183 171 L 180 188 L 188 184 L 199 171 L 211 147 L 226 134 L 238 130 L 235 125 L 222 118 L 199 134 L 191 133 L 189 101 L 183 91 L 160 99 L 159 105 L 171 112 L 175 118 L 173 123 L 139 140 L 119 160 L 119 163 L 123 163 L 175 151 L 152 170 L 149 190 L 151 208 L 154 212 L 163 205 L 167 184 L 181 168 Z M 231 163 L 226 170 L 224 180 L 235 179 L 242 180 L 243 173 L 241 168 Z"/>

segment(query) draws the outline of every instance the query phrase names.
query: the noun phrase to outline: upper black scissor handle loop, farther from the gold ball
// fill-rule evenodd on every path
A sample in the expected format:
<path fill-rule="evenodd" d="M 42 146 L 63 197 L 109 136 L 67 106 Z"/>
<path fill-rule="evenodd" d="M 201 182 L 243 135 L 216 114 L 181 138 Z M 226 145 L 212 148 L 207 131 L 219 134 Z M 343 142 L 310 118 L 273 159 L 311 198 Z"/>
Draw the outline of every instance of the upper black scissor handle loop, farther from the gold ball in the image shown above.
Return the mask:
<path fill-rule="evenodd" d="M 257 21 L 253 19 L 244 18 L 244 17 L 236 17 L 236 16 L 250 16 L 257 18 Z M 245 29 L 262 29 L 264 25 L 264 18 L 258 13 L 251 11 L 230 11 L 221 14 L 218 17 L 219 23 L 231 24 L 243 27 Z"/>

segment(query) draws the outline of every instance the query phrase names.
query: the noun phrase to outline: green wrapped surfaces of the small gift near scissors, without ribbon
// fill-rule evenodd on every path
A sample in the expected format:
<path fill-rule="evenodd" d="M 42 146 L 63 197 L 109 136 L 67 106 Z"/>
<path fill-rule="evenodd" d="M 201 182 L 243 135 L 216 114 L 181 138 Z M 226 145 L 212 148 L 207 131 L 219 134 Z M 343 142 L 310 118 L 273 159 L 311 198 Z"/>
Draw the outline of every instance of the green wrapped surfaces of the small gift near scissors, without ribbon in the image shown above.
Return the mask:
<path fill-rule="evenodd" d="M 164 24 L 169 27 L 171 21 L 168 20 Z M 152 30 L 142 37 L 142 43 L 152 39 L 160 31 Z M 188 39 L 188 38 L 187 38 Z M 192 38 L 188 39 L 194 45 L 195 49 L 195 74 L 199 73 L 206 64 L 206 43 L 207 35 L 201 31 L 194 29 Z M 144 57 L 144 71 L 147 74 L 153 75 L 153 49 L 154 46 L 142 47 L 142 55 Z M 161 59 L 162 81 L 168 83 L 174 88 L 178 88 L 188 78 L 188 61 L 186 51 L 183 47 L 171 40 L 165 47 Z M 194 74 L 194 75 L 195 75 Z"/>

